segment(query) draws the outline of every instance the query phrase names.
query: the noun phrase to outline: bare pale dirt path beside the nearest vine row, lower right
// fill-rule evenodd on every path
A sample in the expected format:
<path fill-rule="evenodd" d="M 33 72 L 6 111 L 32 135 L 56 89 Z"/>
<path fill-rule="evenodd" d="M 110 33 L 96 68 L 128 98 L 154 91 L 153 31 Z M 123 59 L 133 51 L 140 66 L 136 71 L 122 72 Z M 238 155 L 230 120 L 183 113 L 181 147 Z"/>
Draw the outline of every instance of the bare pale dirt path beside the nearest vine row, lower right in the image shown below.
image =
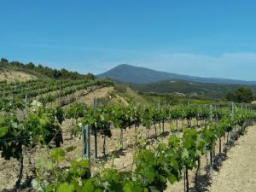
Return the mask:
<path fill-rule="evenodd" d="M 247 130 L 227 154 L 219 172 L 212 174 L 210 192 L 256 191 L 256 127 Z"/>

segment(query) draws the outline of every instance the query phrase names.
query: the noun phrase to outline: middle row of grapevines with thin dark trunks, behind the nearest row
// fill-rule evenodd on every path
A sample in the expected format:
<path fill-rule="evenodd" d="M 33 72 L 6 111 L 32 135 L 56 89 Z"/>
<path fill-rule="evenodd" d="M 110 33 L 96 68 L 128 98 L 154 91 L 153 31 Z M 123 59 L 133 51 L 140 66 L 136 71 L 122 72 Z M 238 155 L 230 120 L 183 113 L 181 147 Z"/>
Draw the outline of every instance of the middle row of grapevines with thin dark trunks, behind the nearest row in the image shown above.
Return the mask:
<path fill-rule="evenodd" d="M 222 118 L 225 113 L 230 113 L 228 110 L 215 109 L 211 110 L 204 106 L 165 106 L 163 108 L 155 108 L 154 106 L 123 106 L 119 104 L 100 106 L 96 109 L 86 107 L 84 104 L 74 103 L 66 110 L 68 119 L 75 119 L 76 125 L 73 126 L 73 133 L 81 132 L 81 127 L 78 126 L 78 119 L 84 124 L 90 125 L 92 134 L 95 137 L 95 156 L 97 158 L 97 135 L 101 134 L 103 141 L 103 154 L 106 153 L 106 137 L 111 137 L 110 125 L 120 129 L 120 149 L 123 149 L 124 130 L 134 127 L 135 137 L 137 141 L 137 127 L 143 125 L 145 127 L 145 135 L 149 137 L 149 130 L 154 125 L 155 136 L 158 136 L 156 124 L 160 125 L 161 134 L 165 133 L 165 122 L 176 122 L 187 119 L 189 127 L 191 119 L 210 119 L 212 117 Z M 199 126 L 198 126 L 199 127 Z M 172 132 L 172 130 L 170 130 Z"/>

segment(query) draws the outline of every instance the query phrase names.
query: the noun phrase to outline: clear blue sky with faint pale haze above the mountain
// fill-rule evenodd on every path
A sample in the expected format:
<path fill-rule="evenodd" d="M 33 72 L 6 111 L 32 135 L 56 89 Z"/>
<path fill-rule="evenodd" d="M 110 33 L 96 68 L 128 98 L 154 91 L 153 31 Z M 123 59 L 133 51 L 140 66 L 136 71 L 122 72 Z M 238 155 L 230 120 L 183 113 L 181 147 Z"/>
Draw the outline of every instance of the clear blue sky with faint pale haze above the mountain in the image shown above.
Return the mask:
<path fill-rule="evenodd" d="M 2 0 L 0 57 L 102 73 L 128 63 L 256 80 L 251 0 Z"/>

